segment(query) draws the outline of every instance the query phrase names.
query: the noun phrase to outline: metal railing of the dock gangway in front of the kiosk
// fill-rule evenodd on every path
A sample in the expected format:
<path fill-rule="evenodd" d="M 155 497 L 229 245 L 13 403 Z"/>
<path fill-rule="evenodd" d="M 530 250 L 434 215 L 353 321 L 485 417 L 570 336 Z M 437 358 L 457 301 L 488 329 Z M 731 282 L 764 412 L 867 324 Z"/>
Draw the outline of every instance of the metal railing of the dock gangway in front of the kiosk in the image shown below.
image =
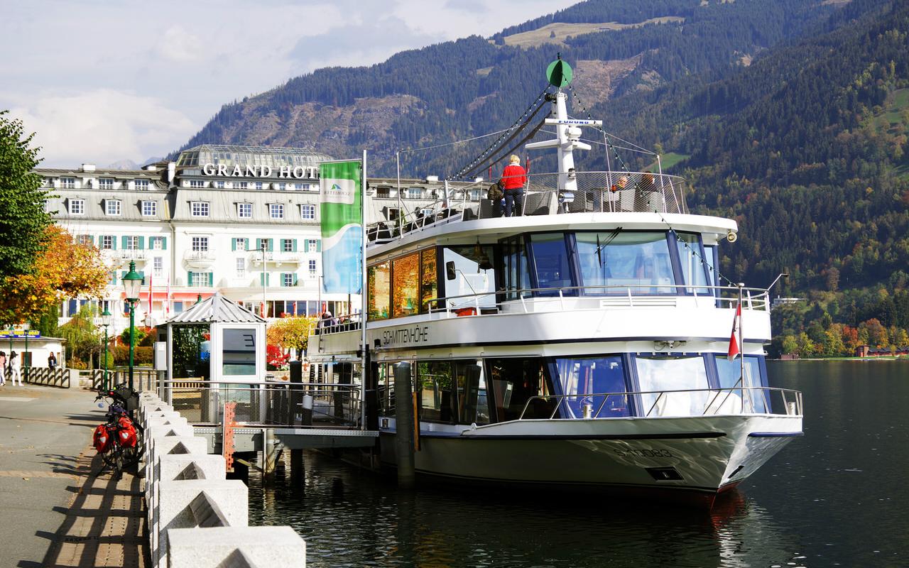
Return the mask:
<path fill-rule="evenodd" d="M 160 394 L 191 424 L 221 424 L 224 404 L 236 403 L 235 420 L 248 426 L 357 428 L 359 384 L 241 384 L 175 379 Z"/>

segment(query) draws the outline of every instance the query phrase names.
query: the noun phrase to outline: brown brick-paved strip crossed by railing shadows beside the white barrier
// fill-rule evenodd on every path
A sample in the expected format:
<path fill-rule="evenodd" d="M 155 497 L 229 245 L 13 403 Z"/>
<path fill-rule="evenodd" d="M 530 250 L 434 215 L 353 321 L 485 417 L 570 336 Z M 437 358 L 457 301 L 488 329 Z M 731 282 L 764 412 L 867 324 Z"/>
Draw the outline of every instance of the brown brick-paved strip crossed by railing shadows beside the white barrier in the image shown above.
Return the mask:
<path fill-rule="evenodd" d="M 45 568 L 151 565 L 146 556 L 142 480 L 131 472 L 97 475 L 102 465 L 91 446 L 79 456 L 78 489 L 64 523 L 51 536 Z"/>

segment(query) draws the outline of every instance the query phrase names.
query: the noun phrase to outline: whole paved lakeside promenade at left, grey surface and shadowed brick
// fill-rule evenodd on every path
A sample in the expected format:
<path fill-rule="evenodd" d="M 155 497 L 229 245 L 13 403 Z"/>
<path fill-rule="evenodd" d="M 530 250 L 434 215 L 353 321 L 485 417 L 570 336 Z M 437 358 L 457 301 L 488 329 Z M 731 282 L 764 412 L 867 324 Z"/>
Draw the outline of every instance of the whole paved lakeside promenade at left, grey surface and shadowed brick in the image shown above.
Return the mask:
<path fill-rule="evenodd" d="M 94 398 L 94 393 L 77 388 L 8 383 L 0 387 L 0 562 L 4 566 L 147 565 L 141 563 L 136 540 L 144 527 L 131 520 L 134 512 L 141 520 L 138 480 L 125 475 L 114 482 L 110 474 L 92 474 L 100 463 L 93 463 L 95 452 L 89 451 L 91 434 L 104 421 L 104 411 Z M 112 505 L 110 518 L 99 514 Z M 119 525 L 123 526 L 118 529 Z M 136 563 L 129 563 L 130 553 L 119 563 L 105 563 L 107 556 L 116 553 L 100 544 L 105 543 L 105 534 L 118 530 L 121 548 L 132 547 Z M 92 544 L 86 547 L 85 543 Z M 81 552 L 74 552 L 75 548 Z M 100 557 L 89 559 L 88 549 Z"/>

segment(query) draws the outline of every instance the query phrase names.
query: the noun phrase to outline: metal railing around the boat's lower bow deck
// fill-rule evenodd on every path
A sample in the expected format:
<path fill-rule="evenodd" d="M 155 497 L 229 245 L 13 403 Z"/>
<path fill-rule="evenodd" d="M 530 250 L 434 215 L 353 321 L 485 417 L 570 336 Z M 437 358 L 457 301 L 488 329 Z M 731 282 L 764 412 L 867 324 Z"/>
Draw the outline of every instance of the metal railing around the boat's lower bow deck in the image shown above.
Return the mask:
<path fill-rule="evenodd" d="M 563 414 L 580 414 L 580 418 L 620 417 L 616 410 L 628 412 L 629 399 L 640 401 L 644 418 L 665 416 L 706 416 L 717 414 L 776 414 L 802 416 L 802 393 L 792 389 L 768 386 L 734 386 L 719 389 L 682 389 L 664 391 L 635 391 L 592 394 L 540 394 L 524 403 L 518 420 L 554 420 L 560 409 Z M 551 407 L 548 416 L 536 412 L 539 401 Z M 528 417 L 528 410 L 533 416 Z M 606 411 L 604 414 L 604 410 Z M 680 412 L 682 410 L 683 412 Z M 626 417 L 629 414 L 622 414 Z"/>

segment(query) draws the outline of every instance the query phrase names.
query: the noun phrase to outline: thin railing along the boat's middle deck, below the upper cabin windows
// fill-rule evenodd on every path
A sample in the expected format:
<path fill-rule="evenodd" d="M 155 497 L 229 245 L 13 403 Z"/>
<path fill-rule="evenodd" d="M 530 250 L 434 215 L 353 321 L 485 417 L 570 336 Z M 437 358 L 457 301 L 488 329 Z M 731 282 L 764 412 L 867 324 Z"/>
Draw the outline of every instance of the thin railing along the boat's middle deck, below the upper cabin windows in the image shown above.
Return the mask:
<path fill-rule="evenodd" d="M 590 300 L 577 310 L 599 310 L 605 307 L 674 306 L 680 296 L 691 297 L 696 305 L 732 308 L 738 301 L 738 287 L 694 284 L 601 284 L 498 290 L 475 294 L 458 294 L 428 300 L 432 314 L 457 316 L 478 314 L 563 311 L 569 300 Z M 769 312 L 769 291 L 764 288 L 742 288 L 742 306 L 746 310 Z M 504 296 L 504 299 L 501 298 Z"/>

